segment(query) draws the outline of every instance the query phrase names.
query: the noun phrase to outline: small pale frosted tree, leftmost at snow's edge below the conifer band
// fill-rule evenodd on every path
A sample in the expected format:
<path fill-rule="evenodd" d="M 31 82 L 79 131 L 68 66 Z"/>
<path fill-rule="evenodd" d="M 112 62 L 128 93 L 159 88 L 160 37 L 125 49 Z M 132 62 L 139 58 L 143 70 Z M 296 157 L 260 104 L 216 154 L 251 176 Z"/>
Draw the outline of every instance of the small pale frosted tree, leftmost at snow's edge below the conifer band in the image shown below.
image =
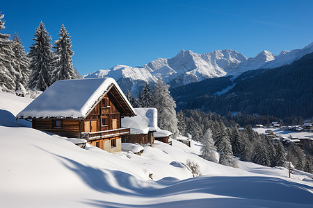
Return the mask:
<path fill-rule="evenodd" d="M 214 146 L 213 134 L 211 129 L 208 129 L 204 133 L 201 139 L 201 143 L 202 143 L 201 148 L 202 157 L 211 162 L 218 163 L 218 159 L 216 158 L 216 146 Z"/>

